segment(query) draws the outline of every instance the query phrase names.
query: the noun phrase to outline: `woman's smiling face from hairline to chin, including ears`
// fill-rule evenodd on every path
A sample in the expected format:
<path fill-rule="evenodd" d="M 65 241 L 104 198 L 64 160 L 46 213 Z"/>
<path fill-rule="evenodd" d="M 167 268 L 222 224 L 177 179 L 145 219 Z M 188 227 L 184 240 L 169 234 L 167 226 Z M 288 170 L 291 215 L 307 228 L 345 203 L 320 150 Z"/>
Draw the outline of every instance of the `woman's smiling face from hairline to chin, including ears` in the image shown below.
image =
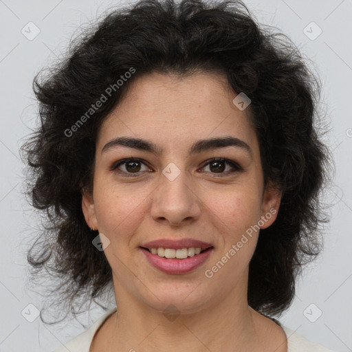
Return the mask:
<path fill-rule="evenodd" d="M 83 212 L 89 227 L 109 239 L 104 254 L 117 303 L 129 297 L 160 311 L 171 304 L 197 311 L 234 292 L 246 297 L 257 229 L 274 222 L 281 198 L 274 188 L 263 188 L 250 107 L 237 109 L 235 97 L 221 76 L 150 74 L 138 78 L 104 120 L 94 190 L 83 195 Z M 148 145 L 118 142 L 121 137 Z M 199 143 L 207 140 L 213 143 Z M 203 241 L 212 248 L 188 259 L 162 259 L 141 248 L 159 239 Z"/>

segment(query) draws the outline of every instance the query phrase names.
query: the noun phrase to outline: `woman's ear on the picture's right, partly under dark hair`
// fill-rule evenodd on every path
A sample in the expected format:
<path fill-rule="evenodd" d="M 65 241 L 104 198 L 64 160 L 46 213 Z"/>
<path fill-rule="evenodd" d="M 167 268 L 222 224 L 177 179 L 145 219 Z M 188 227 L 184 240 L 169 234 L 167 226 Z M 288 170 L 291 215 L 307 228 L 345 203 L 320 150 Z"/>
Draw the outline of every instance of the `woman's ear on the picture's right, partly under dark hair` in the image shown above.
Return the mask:
<path fill-rule="evenodd" d="M 276 220 L 278 208 L 280 207 L 282 193 L 272 183 L 268 182 L 263 193 L 263 201 L 261 206 L 261 220 L 259 224 L 261 229 L 268 228 Z"/>

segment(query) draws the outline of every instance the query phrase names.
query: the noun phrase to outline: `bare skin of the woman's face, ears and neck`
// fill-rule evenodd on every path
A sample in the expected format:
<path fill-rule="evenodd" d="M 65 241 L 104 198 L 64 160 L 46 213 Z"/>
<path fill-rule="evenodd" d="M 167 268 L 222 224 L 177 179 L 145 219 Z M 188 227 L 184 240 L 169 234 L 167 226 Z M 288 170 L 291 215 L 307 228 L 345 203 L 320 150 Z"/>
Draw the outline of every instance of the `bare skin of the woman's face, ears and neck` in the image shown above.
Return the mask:
<path fill-rule="evenodd" d="M 240 111 L 232 103 L 235 97 L 224 76 L 199 72 L 181 79 L 153 73 L 135 80 L 104 120 L 96 141 L 93 194 L 83 193 L 82 206 L 89 227 L 110 241 L 104 254 L 118 312 L 100 327 L 90 352 L 287 351 L 283 329 L 248 307 L 248 265 L 260 231 L 212 278 L 204 274 L 270 209 L 277 214 L 281 201 L 273 185 L 264 189 L 250 107 Z M 247 143 L 251 154 L 235 146 L 189 153 L 198 140 L 228 135 Z M 102 153 L 107 142 L 122 136 L 151 141 L 163 153 L 126 146 Z M 142 159 L 136 177 L 128 176 L 135 169 L 126 164 L 110 169 L 129 157 Z M 219 173 L 209 160 L 214 157 L 243 170 L 221 164 Z M 170 162 L 180 171 L 173 181 L 162 173 Z M 261 228 L 272 225 L 276 214 Z M 188 237 L 214 246 L 206 263 L 188 274 L 160 272 L 140 249 L 147 241 Z M 179 311 L 173 321 L 164 315 L 169 305 Z"/>

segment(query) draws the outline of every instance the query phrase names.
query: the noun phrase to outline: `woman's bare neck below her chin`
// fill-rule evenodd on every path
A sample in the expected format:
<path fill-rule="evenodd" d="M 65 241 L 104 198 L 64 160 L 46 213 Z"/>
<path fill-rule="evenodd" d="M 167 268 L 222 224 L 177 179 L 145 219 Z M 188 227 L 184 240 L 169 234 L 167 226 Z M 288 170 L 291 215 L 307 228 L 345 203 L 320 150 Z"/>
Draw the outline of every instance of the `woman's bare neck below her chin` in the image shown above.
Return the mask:
<path fill-rule="evenodd" d="M 117 280 L 114 287 L 118 311 L 109 322 L 105 351 L 261 350 L 259 314 L 248 307 L 246 279 L 218 302 L 200 304 L 192 311 L 180 304 L 177 311 L 167 304 L 168 309 L 158 310 L 127 294 Z"/>

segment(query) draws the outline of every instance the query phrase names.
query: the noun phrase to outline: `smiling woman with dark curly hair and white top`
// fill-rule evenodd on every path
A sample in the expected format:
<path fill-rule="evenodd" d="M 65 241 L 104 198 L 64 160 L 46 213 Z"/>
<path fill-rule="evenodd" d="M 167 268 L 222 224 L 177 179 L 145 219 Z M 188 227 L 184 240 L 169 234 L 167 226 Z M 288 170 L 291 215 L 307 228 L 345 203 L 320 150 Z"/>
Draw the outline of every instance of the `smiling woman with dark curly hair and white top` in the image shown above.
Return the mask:
<path fill-rule="evenodd" d="M 73 311 L 111 284 L 117 307 L 58 352 L 328 351 L 274 318 L 319 252 L 329 166 L 280 38 L 239 1 L 140 1 L 36 77 L 29 261 Z"/>

